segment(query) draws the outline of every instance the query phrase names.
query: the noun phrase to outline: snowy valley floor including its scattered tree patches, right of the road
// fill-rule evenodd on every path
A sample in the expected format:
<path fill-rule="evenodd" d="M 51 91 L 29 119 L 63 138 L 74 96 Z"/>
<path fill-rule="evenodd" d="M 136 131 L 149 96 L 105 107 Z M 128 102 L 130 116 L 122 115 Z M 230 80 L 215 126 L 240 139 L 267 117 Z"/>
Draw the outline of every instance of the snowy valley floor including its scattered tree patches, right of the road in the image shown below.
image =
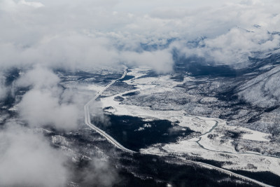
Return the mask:
<path fill-rule="evenodd" d="M 148 72 L 147 68 L 130 69 L 127 73 L 130 78 L 120 81 L 132 89 L 126 90 L 120 87 L 116 89 L 116 86 L 112 86 L 100 98 L 101 107 L 106 115 L 132 116 L 141 118 L 145 122 L 142 126 L 131 128 L 131 131 L 145 131 L 153 126 L 151 125 L 153 121 L 167 120 L 172 124 L 168 130 L 169 135 L 179 132 L 175 142 L 142 146 L 141 153 L 173 155 L 182 160 L 215 160 L 221 164 L 221 167 L 233 171 L 272 172 L 280 176 L 280 148 L 277 142 L 272 141 L 272 134 L 252 130 L 242 124 L 228 125 L 225 119 L 207 117 L 211 115 L 201 112 L 200 104 L 207 104 L 207 106 L 217 104 L 216 97 L 202 97 L 180 92 L 182 90 L 180 85 L 186 85 L 195 78 L 186 76 L 179 82 L 172 79 L 170 75 L 147 76 Z M 188 99 L 192 97 L 192 102 L 200 101 L 198 106 L 194 107 L 197 111 L 193 113 L 201 112 L 201 116 L 188 113 L 180 103 L 168 102 L 172 98 L 177 98 L 178 101 L 178 97 L 184 98 L 185 95 Z M 148 106 L 154 101 L 159 106 Z M 165 109 L 160 110 L 160 106 Z M 184 130 L 186 132 L 191 130 L 191 133 L 184 133 Z M 111 136 L 114 137 L 114 134 Z"/>

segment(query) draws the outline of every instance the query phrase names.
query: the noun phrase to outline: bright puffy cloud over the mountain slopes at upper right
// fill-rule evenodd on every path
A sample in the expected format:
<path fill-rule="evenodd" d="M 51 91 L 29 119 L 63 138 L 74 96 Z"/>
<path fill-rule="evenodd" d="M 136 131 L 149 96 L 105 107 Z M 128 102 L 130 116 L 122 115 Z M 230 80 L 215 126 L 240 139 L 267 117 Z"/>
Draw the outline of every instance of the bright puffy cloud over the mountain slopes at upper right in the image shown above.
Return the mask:
<path fill-rule="evenodd" d="M 261 27 L 250 27 L 249 30 L 234 27 L 214 39 L 199 41 L 195 47 L 181 42 L 172 46 L 186 57 L 202 57 L 206 62 L 240 68 L 248 66 L 248 57 L 253 57 L 253 53 L 267 53 L 279 48 L 279 44 L 278 34 L 271 34 Z"/>

